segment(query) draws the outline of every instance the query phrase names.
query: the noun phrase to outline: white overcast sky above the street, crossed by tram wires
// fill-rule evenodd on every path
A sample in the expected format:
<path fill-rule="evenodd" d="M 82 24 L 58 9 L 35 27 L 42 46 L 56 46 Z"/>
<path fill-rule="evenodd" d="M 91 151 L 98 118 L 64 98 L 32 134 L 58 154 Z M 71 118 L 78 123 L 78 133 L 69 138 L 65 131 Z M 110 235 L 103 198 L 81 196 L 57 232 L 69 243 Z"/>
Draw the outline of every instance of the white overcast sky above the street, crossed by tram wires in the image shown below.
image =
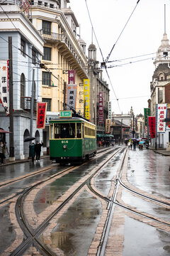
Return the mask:
<path fill-rule="evenodd" d="M 140 0 L 138 4 L 137 0 L 70 0 L 68 6 L 74 11 L 81 26 L 81 38 L 86 41 L 86 55 L 88 55 L 87 49 L 92 39 L 86 4 L 98 40 L 97 43 L 95 36 L 93 37 L 93 43 L 97 48 L 97 60 L 99 62 L 102 62 L 103 58 L 105 60 L 114 44 L 109 61 L 121 60 L 107 64 L 118 65 L 108 68 L 111 82 L 103 70 L 103 78 L 108 82 L 111 90 L 112 111 L 115 114 L 121 112 L 126 114 L 130 112 L 132 106 L 135 114 L 143 114 L 144 108 L 148 107 L 147 100 L 150 98 L 154 58 L 164 34 L 164 4 L 166 4 L 166 33 L 170 38 L 170 0 Z M 120 36 L 127 21 L 128 24 Z M 79 33 L 79 30 L 77 32 Z M 154 54 L 149 55 L 150 53 Z M 139 55 L 144 56 L 131 58 Z M 125 58 L 128 59 L 122 60 Z M 143 60 L 146 58 L 149 60 Z M 128 64 L 123 65 L 125 63 Z"/>

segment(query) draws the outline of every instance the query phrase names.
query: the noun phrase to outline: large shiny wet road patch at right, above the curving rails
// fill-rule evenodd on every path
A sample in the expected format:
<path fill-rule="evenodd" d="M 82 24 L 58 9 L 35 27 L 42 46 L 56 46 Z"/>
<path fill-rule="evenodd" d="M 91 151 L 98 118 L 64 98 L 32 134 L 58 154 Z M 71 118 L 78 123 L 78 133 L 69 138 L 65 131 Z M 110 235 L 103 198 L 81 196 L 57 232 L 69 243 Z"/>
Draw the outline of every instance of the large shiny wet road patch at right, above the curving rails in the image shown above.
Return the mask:
<path fill-rule="evenodd" d="M 169 156 L 152 150 L 129 150 L 128 181 L 147 193 L 170 199 Z"/>

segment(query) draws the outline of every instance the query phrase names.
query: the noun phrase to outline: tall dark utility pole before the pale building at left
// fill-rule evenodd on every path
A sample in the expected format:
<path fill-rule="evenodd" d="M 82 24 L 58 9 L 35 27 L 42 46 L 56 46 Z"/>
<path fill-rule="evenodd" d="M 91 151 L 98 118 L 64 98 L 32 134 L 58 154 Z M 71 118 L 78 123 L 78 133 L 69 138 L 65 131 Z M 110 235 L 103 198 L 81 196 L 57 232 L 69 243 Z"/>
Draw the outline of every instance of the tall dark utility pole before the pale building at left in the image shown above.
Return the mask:
<path fill-rule="evenodd" d="M 9 63 L 9 161 L 15 160 L 13 143 L 13 55 L 12 37 L 8 36 L 8 63 Z"/>

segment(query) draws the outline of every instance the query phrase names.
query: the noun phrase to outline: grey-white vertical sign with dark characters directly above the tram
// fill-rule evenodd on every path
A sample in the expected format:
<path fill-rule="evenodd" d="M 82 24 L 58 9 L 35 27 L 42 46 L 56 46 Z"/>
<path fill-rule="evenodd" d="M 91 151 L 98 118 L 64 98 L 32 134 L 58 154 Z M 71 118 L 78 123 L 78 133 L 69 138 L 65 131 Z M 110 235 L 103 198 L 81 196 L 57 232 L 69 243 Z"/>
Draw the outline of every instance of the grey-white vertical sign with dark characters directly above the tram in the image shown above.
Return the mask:
<path fill-rule="evenodd" d="M 76 110 L 77 85 L 67 85 L 67 110 Z M 70 107 L 70 108 L 69 108 Z"/>

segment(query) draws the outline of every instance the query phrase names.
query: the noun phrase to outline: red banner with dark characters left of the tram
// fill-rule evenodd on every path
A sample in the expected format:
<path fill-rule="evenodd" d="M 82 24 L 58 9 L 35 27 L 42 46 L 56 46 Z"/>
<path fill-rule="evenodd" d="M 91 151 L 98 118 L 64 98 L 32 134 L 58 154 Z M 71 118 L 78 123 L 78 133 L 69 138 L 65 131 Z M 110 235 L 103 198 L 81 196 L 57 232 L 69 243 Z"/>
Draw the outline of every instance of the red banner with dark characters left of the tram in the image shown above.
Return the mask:
<path fill-rule="evenodd" d="M 39 129 L 45 128 L 46 110 L 47 102 L 37 103 L 37 128 Z"/>

